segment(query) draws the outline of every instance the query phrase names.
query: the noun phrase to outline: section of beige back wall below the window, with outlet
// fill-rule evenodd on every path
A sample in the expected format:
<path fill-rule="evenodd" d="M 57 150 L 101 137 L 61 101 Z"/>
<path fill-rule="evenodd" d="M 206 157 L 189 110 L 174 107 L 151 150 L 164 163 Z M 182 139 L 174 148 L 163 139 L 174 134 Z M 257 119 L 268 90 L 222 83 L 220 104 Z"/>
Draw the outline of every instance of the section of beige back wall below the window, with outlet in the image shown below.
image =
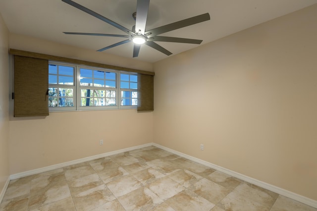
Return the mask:
<path fill-rule="evenodd" d="M 152 124 L 152 112 L 135 109 L 10 121 L 10 174 L 151 143 Z"/>

